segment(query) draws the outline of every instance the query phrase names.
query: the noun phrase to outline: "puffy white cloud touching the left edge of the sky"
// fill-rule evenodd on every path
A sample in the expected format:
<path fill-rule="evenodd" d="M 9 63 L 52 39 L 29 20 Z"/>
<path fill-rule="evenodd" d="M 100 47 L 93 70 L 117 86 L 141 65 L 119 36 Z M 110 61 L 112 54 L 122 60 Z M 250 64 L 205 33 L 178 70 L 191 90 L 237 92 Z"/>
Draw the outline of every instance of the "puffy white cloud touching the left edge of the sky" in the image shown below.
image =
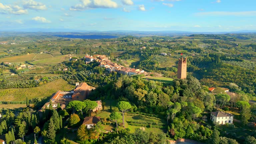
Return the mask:
<path fill-rule="evenodd" d="M 16 15 L 21 15 L 21 14 L 27 14 L 28 10 L 23 9 L 22 7 L 18 5 L 3 5 L 0 3 L 0 13 L 2 14 L 16 14 Z"/>

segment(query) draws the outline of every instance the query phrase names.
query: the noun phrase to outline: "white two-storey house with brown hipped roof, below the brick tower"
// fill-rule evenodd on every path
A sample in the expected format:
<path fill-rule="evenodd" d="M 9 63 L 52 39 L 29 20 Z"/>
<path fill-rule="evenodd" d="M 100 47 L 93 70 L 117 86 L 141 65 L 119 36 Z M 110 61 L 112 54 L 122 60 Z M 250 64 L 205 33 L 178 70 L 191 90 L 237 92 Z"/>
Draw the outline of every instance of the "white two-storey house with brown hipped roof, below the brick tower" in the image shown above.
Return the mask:
<path fill-rule="evenodd" d="M 211 120 L 216 124 L 232 124 L 233 123 L 233 117 L 231 113 L 224 113 L 220 111 L 211 112 Z"/>

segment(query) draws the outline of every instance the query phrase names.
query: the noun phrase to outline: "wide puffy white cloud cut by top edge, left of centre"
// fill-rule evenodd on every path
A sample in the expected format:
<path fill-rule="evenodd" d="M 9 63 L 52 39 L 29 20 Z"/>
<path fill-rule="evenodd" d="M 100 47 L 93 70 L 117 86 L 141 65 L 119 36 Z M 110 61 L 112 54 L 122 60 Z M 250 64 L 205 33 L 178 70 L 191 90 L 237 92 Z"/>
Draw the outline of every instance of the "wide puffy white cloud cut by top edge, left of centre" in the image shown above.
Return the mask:
<path fill-rule="evenodd" d="M 117 8 L 118 5 L 112 0 L 80 0 L 81 4 L 71 6 L 69 10 L 83 11 L 90 8 Z"/>

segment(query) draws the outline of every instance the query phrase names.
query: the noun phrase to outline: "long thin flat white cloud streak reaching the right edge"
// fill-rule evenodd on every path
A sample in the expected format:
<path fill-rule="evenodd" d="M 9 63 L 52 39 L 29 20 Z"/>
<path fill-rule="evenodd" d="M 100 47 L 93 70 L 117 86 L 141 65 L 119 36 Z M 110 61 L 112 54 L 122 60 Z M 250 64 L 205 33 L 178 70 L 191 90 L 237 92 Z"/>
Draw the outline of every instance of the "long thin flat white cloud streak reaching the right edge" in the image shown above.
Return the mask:
<path fill-rule="evenodd" d="M 212 11 L 212 12 L 199 12 L 195 13 L 196 16 L 256 16 L 256 11 Z"/>

